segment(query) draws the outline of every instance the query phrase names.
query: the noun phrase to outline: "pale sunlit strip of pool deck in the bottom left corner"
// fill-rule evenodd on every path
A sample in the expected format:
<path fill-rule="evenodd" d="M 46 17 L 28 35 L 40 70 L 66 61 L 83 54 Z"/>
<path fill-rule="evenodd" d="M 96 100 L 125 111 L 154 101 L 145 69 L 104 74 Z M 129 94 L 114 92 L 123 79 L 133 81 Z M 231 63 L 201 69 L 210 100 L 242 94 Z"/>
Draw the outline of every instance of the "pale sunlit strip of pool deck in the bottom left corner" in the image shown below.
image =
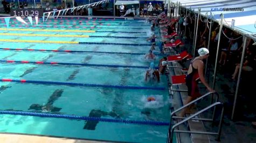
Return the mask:
<path fill-rule="evenodd" d="M 30 134 L 9 134 L 0 133 L 1 143 L 100 143 L 106 141 L 68 139 L 68 138 L 54 138 L 47 136 L 34 136 Z"/>

